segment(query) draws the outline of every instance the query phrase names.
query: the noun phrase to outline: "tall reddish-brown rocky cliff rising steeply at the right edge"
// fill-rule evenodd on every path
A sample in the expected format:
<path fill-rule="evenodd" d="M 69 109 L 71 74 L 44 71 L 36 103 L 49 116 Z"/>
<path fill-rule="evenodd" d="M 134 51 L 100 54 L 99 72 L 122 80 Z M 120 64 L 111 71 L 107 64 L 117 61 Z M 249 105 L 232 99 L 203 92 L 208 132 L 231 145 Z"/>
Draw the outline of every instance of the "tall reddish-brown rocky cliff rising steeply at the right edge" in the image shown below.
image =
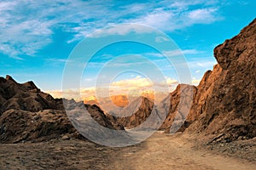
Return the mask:
<path fill-rule="evenodd" d="M 214 49 L 218 61 L 207 71 L 186 118 L 186 132 L 201 133 L 210 141 L 251 139 L 256 136 L 256 20 Z M 179 86 L 162 128 L 170 128 L 181 102 Z M 184 99 L 186 101 L 186 99 Z M 181 113 L 182 115 L 183 113 Z"/>

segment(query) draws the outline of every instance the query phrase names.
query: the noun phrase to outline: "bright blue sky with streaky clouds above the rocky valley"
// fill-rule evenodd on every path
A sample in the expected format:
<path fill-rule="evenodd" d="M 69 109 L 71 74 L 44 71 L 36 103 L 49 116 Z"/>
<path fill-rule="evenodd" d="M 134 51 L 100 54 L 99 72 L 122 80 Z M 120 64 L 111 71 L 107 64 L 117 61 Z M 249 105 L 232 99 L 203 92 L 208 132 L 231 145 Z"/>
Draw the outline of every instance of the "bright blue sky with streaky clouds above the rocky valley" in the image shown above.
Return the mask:
<path fill-rule="evenodd" d="M 131 28 L 134 25 L 148 26 L 165 33 L 176 48 L 161 53 L 172 57 L 181 52 L 189 65 L 191 83 L 197 84 L 204 72 L 212 70 L 212 66 L 217 64 L 213 48 L 225 39 L 236 36 L 247 26 L 256 16 L 255 8 L 254 0 L 2 0 L 0 77 L 10 75 L 17 82 L 32 80 L 43 91 L 60 94 L 64 70 L 67 63 L 72 62 L 70 56 L 78 44 L 84 39 L 96 37 L 97 34 L 101 36 L 101 29 L 106 26 L 130 24 L 114 27 L 118 31 L 107 29 L 110 36 L 107 38 L 111 38 L 113 34 L 128 35 L 134 31 L 137 34 L 135 37 L 148 33 L 145 31 L 147 29 L 141 31 Z M 160 42 L 160 39 L 156 41 Z M 99 79 L 98 73 L 105 67 L 108 67 L 107 72 L 111 72 L 113 67 L 135 65 L 129 67 L 130 72 L 119 71 L 119 74 L 111 78 L 110 86 L 113 88 L 123 88 L 127 84 L 141 88 L 151 87 L 154 81 L 148 75 L 154 74 L 154 71 L 150 72 L 149 66 L 147 68 L 145 65 L 147 59 L 149 63 L 160 66 L 166 84 L 172 87 L 182 82 L 173 65 L 160 60 L 162 58 L 154 48 L 140 43 L 122 42 L 97 51 L 85 67 L 86 59 L 73 65 L 84 68 L 79 84 L 84 94 L 93 91 L 91 89 Z M 109 65 L 106 66 L 106 63 Z M 144 68 L 148 75 L 136 71 L 136 68 Z M 104 86 L 104 83 L 101 85 Z"/>

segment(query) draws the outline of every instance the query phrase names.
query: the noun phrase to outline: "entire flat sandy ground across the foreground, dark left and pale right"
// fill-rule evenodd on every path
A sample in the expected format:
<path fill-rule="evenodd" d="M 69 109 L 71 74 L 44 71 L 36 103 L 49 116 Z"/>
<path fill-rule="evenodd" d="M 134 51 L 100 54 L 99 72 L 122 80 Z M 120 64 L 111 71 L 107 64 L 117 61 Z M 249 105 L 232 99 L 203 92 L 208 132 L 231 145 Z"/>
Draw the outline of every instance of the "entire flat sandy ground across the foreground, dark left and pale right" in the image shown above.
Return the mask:
<path fill-rule="evenodd" d="M 108 148 L 79 139 L 0 144 L 0 169 L 256 169 L 255 161 L 196 145 L 179 134 L 163 133 L 154 133 L 143 143 L 125 148 Z"/>

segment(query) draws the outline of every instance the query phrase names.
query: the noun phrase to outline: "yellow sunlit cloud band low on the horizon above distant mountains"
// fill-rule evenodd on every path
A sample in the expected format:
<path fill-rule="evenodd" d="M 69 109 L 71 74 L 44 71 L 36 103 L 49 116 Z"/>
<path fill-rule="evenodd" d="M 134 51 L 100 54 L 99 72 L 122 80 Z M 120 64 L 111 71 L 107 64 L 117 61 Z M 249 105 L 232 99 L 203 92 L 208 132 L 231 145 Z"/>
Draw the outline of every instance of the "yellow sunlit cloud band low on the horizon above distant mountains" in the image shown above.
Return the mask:
<path fill-rule="evenodd" d="M 64 89 L 62 90 L 51 90 L 46 91 L 53 95 L 55 98 L 67 98 L 81 100 L 91 96 L 97 97 L 109 97 L 109 95 L 119 95 L 119 94 L 142 94 L 146 91 L 161 92 L 162 88 L 164 91 L 168 88 L 168 92 L 172 92 L 178 84 L 177 80 L 171 77 L 165 77 L 164 82 L 151 82 L 146 77 L 133 77 L 130 79 L 122 79 L 119 81 L 112 82 L 108 86 L 97 86 L 90 88 L 81 89 Z M 166 92 L 166 91 L 165 91 Z"/>

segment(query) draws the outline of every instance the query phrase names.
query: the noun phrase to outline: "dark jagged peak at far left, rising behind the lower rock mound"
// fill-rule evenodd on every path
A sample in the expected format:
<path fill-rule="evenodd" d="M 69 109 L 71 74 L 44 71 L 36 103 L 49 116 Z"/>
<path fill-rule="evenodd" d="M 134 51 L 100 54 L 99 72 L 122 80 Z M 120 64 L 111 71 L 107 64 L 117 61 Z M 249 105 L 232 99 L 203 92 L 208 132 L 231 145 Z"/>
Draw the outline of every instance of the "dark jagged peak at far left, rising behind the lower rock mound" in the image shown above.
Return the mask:
<path fill-rule="evenodd" d="M 60 100 L 44 94 L 33 82 L 20 84 L 10 76 L 0 77 L 0 105 L 0 113 L 9 109 L 42 111 L 62 107 Z"/>

